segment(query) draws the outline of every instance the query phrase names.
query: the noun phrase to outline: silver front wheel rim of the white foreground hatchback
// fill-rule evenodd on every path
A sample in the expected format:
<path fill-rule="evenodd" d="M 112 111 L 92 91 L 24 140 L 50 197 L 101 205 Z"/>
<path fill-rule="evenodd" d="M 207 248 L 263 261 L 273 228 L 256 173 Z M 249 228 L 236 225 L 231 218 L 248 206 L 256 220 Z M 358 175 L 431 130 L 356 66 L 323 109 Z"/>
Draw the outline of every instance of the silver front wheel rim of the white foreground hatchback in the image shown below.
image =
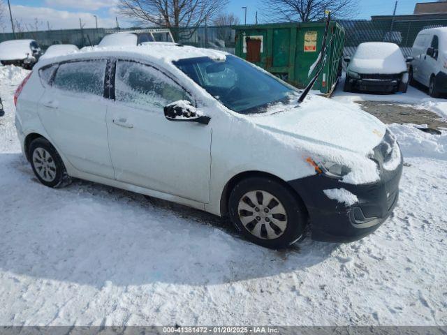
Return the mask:
<path fill-rule="evenodd" d="M 259 239 L 277 239 L 287 228 L 283 204 L 266 191 L 250 191 L 240 198 L 237 213 L 244 228 Z"/>

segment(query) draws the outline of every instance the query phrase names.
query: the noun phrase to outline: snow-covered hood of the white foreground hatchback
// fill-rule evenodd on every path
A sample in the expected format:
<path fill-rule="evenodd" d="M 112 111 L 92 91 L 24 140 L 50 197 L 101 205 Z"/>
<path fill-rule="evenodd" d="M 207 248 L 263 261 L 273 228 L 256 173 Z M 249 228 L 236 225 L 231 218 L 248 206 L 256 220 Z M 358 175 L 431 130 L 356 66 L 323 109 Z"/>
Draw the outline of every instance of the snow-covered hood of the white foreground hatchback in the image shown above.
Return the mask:
<path fill-rule="evenodd" d="M 367 155 L 379 145 L 386 126 L 359 107 L 311 96 L 298 107 L 252 118 L 265 130 L 314 144 Z"/>

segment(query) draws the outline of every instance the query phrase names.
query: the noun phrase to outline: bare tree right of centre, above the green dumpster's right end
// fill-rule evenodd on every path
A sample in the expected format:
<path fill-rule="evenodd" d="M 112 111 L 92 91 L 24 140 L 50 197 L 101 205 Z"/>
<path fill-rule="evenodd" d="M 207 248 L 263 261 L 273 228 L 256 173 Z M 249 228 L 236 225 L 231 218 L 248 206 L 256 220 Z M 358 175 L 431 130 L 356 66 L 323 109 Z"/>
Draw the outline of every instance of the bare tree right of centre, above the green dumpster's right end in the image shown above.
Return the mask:
<path fill-rule="evenodd" d="M 263 0 L 263 11 L 268 20 L 309 22 L 321 20 L 325 11 L 342 19 L 357 13 L 356 0 Z"/>

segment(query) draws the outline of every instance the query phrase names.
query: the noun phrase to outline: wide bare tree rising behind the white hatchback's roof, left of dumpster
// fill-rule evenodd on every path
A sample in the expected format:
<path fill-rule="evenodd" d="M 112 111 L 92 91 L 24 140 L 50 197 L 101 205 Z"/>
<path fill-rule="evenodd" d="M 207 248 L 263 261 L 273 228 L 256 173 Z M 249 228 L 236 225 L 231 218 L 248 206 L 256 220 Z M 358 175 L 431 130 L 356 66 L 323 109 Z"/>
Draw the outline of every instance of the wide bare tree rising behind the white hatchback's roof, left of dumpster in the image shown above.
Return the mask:
<path fill-rule="evenodd" d="M 122 15 L 167 28 L 199 27 L 227 4 L 228 0 L 118 0 Z"/>

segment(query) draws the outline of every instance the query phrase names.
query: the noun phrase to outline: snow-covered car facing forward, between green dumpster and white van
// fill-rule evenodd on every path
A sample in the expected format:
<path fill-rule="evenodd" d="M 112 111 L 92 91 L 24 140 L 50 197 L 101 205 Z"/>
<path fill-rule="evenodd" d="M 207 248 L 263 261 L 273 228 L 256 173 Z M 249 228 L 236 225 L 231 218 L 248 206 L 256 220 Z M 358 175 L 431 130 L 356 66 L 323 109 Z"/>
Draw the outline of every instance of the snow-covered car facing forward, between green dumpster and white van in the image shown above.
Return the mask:
<path fill-rule="evenodd" d="M 358 45 L 348 63 L 344 91 L 406 92 L 409 82 L 407 62 L 394 43 L 367 42 Z"/>

